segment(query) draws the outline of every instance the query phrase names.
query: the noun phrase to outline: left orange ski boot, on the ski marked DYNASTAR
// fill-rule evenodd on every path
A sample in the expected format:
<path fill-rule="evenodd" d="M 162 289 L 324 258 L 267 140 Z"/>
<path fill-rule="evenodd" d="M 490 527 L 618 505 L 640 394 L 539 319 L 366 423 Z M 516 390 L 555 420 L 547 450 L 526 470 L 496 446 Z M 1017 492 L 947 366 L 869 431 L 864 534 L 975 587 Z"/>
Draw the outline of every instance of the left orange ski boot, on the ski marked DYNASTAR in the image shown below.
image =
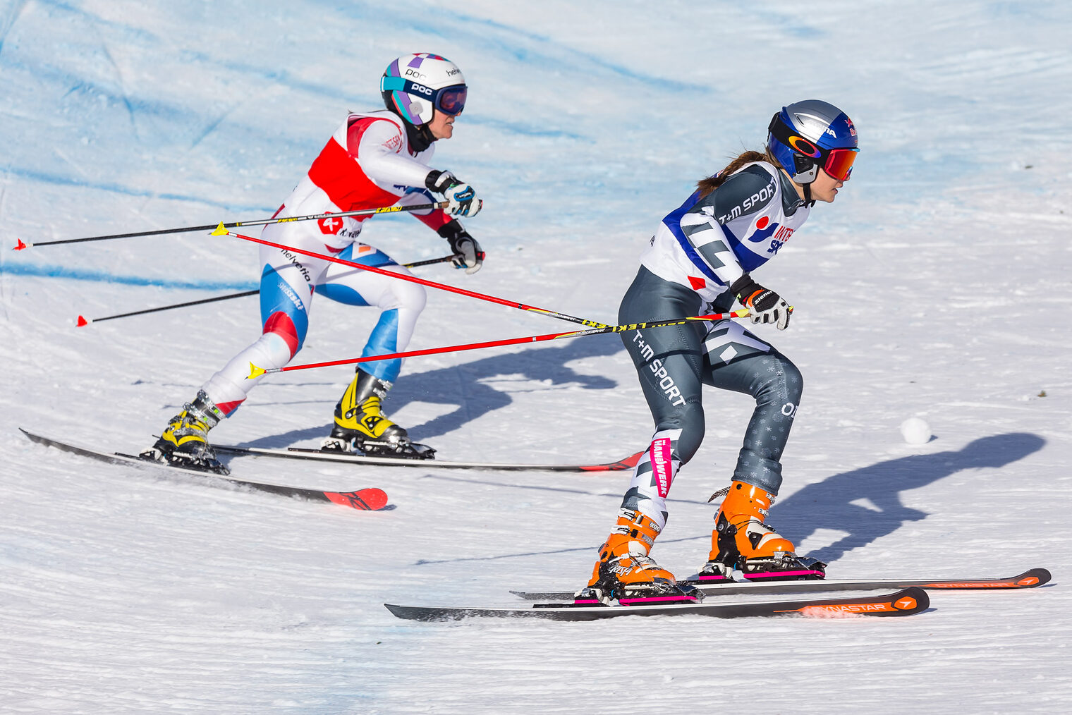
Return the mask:
<path fill-rule="evenodd" d="M 647 555 L 659 526 L 630 509 L 619 512 L 614 531 L 599 547 L 599 561 L 592 569 L 592 579 L 575 597 L 577 604 L 694 602 L 703 596 L 690 587 L 679 586 L 673 574 L 661 568 Z"/>

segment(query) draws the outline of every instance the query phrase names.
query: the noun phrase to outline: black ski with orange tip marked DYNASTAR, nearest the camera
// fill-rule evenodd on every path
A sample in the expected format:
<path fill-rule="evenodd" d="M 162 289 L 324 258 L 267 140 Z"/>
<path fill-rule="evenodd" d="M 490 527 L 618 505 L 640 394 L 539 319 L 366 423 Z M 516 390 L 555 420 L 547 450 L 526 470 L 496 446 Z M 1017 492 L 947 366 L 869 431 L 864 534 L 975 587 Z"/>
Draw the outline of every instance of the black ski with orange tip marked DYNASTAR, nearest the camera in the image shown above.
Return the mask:
<path fill-rule="evenodd" d="M 528 608 L 451 608 L 438 606 L 394 606 L 391 613 L 410 621 L 457 621 L 468 617 L 549 619 L 552 621 L 596 621 L 620 615 L 708 615 L 739 619 L 760 615 L 804 615 L 843 617 L 857 615 L 912 615 L 930 605 L 922 589 L 904 589 L 891 594 L 833 598 L 809 596 L 795 600 L 753 600 L 740 604 L 667 604 L 651 606 L 572 606 L 536 604 Z"/>

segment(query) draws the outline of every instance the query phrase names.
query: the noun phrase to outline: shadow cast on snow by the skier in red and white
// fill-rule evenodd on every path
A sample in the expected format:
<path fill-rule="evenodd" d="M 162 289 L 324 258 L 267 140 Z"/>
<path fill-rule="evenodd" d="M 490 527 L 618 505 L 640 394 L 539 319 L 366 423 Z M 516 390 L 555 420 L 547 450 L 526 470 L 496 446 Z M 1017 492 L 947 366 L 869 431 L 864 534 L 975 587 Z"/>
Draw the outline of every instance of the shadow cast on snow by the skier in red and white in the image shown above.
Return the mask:
<path fill-rule="evenodd" d="M 481 382 L 496 376 L 521 375 L 519 379 L 549 379 L 551 387 L 576 383 L 586 390 L 613 389 L 619 386 L 617 381 L 601 375 L 581 374 L 566 363 L 582 358 L 610 356 L 624 349 L 621 338 L 608 333 L 571 339 L 564 342 L 562 347 L 528 348 L 428 372 L 403 372 L 387 396 L 384 406 L 388 415 L 392 415 L 411 402 L 453 405 L 455 409 L 446 415 L 419 424 L 405 426 L 414 441 L 422 442 L 452 432 L 466 422 L 513 402 L 510 392 Z M 328 415 L 333 406 L 325 405 Z M 515 419 L 519 429 L 524 428 L 524 415 L 506 419 Z M 243 446 L 285 447 L 303 440 L 319 440 L 330 431 L 329 421 L 322 427 L 292 430 L 253 440 Z"/>

